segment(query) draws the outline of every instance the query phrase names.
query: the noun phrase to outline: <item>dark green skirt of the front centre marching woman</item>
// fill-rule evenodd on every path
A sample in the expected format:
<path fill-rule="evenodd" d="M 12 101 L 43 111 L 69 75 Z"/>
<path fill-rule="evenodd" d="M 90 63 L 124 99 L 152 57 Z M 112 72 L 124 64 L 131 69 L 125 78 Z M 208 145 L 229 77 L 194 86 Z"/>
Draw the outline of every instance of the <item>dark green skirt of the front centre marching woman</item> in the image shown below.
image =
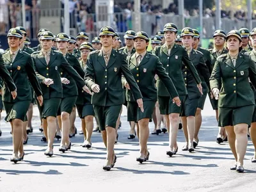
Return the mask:
<path fill-rule="evenodd" d="M 104 131 L 106 127 L 116 128 L 116 121 L 122 109 L 122 105 L 118 106 L 95 106 L 93 105 L 95 111 L 95 117 L 97 122 L 99 122 L 100 131 Z"/>

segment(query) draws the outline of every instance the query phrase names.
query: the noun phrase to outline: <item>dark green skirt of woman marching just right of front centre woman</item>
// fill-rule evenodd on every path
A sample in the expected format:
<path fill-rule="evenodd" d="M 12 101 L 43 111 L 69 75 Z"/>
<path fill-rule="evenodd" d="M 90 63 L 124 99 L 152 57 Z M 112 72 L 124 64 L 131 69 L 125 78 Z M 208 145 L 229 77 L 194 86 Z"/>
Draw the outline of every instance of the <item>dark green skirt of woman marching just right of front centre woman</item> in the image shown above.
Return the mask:
<path fill-rule="evenodd" d="M 143 118 L 149 118 L 149 121 L 152 122 L 152 116 L 154 112 L 154 108 L 156 106 L 156 101 L 152 100 L 144 100 L 143 108 L 144 112 L 142 113 L 140 108 L 138 107 L 137 102 L 129 102 L 127 105 L 127 120 L 128 122 L 138 122 Z"/>

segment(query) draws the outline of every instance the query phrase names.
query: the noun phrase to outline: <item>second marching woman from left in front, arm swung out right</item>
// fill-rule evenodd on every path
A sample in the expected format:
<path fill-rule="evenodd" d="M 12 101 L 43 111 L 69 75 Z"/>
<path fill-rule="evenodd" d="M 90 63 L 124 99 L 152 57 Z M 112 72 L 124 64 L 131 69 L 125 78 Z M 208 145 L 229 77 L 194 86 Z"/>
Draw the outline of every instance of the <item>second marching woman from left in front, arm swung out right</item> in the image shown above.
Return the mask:
<path fill-rule="evenodd" d="M 52 148 L 56 133 L 56 116 L 62 97 L 60 70 L 67 72 L 68 75 L 75 79 L 77 86 L 89 92 L 83 79 L 77 74 L 76 70 L 68 64 L 63 54 L 58 51 L 52 51 L 52 39 L 53 35 L 50 31 L 42 33 L 40 36 L 42 50 L 33 52 L 31 55 L 35 63 L 36 75 L 40 81 L 45 99 L 44 106 L 42 106 L 40 110 L 42 111 L 42 118 L 46 118 L 47 120 L 49 129 L 49 131 L 44 130 L 48 141 L 48 147 L 44 154 L 50 157 L 53 155 Z"/>

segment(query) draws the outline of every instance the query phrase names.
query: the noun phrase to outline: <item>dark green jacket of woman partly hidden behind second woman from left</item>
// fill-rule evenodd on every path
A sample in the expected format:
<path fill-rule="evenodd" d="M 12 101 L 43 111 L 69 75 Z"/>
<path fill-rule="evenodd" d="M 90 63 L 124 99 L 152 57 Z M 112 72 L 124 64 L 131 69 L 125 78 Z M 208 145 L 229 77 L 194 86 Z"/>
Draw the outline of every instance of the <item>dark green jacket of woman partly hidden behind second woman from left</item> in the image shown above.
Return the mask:
<path fill-rule="evenodd" d="M 79 76 L 81 78 L 83 78 L 84 72 L 83 72 L 83 69 L 80 67 L 79 61 L 77 60 L 76 56 L 74 56 L 74 54 L 67 53 L 65 58 L 68 61 L 69 65 L 71 65 L 71 67 L 73 67 L 74 70 L 76 70 L 76 72 L 79 74 Z M 63 88 L 62 97 L 65 98 L 65 97 L 77 96 L 78 92 L 77 92 L 77 84 L 76 84 L 75 79 L 73 77 L 71 77 L 62 68 L 60 71 L 61 71 L 60 72 L 61 77 L 65 77 L 70 81 L 69 84 L 62 84 L 62 88 Z M 83 76 L 81 76 L 81 74 L 83 74 Z"/>

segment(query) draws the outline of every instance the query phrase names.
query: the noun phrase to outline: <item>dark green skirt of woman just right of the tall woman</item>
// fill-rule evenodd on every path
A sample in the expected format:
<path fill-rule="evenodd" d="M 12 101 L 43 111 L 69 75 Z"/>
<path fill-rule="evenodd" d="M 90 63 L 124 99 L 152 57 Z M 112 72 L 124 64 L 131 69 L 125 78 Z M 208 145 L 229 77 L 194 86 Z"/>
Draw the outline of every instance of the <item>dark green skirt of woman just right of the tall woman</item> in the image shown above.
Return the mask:
<path fill-rule="evenodd" d="M 195 116 L 196 115 L 196 108 L 198 106 L 198 100 L 197 99 L 189 99 L 189 97 L 186 98 L 184 108 L 182 109 L 182 112 L 180 113 L 180 116 Z"/>

